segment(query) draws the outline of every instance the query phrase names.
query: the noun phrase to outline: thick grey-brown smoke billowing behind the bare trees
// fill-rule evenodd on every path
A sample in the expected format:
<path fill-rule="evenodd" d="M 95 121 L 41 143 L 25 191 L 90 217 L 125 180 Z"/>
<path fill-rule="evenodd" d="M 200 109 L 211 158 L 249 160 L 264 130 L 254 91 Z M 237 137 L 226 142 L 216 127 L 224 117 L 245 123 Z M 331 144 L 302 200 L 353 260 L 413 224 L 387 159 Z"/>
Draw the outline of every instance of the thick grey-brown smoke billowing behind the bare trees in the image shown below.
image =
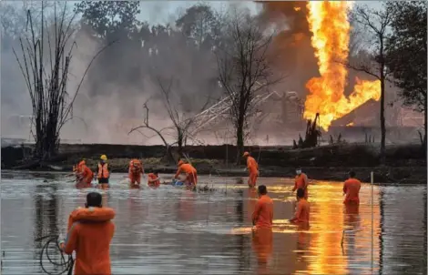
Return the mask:
<path fill-rule="evenodd" d="M 75 119 L 61 133 L 63 142 L 161 144 L 160 138 L 149 130 L 142 130 L 143 135 L 139 132 L 127 134 L 132 127 L 142 124 L 146 115 L 143 106 L 146 103 L 151 127 L 160 129 L 171 126 L 159 82 L 163 87 L 168 87 L 172 81 L 171 104 L 182 117 L 191 117 L 208 100 L 209 104 L 213 104 L 222 97 L 217 80 L 216 57 L 211 50 L 216 42 L 209 39 L 197 41 L 198 34 L 193 34 L 195 41 L 191 41 L 189 34 L 185 34 L 176 25 L 178 18 L 185 15 L 185 8 L 175 7 L 173 10 L 177 10 L 177 13 L 171 13 L 171 5 L 176 4 L 141 2 L 140 9 L 149 15 L 148 23 L 142 22 L 135 31 L 127 34 L 115 33 L 114 37 L 100 38 L 96 30 L 76 22 L 79 29 L 74 37 L 76 48 L 68 83 L 71 94 L 75 92 L 92 56 L 106 46 L 108 41 L 119 39 L 98 56 L 88 71 L 74 104 Z M 218 5 L 217 12 L 224 12 L 229 8 L 229 5 L 215 5 Z M 238 4 L 232 5 L 236 7 Z M 245 4 L 239 4 L 240 7 L 242 5 Z M 189 6 L 190 4 L 186 8 Z M 318 75 L 317 60 L 311 47 L 311 33 L 306 21 L 306 3 L 269 2 L 260 6 L 263 7 L 260 18 L 265 19 L 267 27 L 273 25 L 282 30 L 280 35 L 274 37 L 273 47 L 277 57 L 273 64 L 278 71 L 286 72 L 287 77 L 273 89 L 279 92 L 296 91 L 304 101 L 307 94 L 306 82 Z M 28 138 L 29 120 L 25 117 L 31 116 L 32 110 L 24 78 L 12 51 L 12 48 L 19 48 L 17 37 L 25 29 L 25 8 L 10 3 L 3 3 L 1 7 L 2 137 Z M 254 8 L 251 10 L 254 12 Z M 160 15 L 164 19 L 158 25 Z M 158 22 L 153 23 L 151 19 L 157 19 Z M 212 32 L 209 28 L 203 30 L 208 34 Z M 128 35 L 132 37 L 129 38 Z M 189 46 L 192 43 L 197 46 Z M 350 72 L 352 78 L 355 75 Z M 352 81 L 350 79 L 350 87 L 353 86 Z M 260 123 L 260 130 L 252 133 L 250 143 L 263 144 L 269 139 L 270 144 L 284 144 L 298 137 L 295 130 L 279 127 L 277 120 L 280 120 L 280 113 L 283 111 L 281 104 L 283 103 L 273 100 L 262 107 L 271 114 L 269 119 Z M 301 126 L 304 127 L 304 123 Z M 205 143 L 234 143 L 233 131 L 226 132 L 227 135 L 217 134 L 209 128 L 198 138 Z M 174 140 L 173 136 L 173 131 L 165 131 L 169 142 Z"/>

